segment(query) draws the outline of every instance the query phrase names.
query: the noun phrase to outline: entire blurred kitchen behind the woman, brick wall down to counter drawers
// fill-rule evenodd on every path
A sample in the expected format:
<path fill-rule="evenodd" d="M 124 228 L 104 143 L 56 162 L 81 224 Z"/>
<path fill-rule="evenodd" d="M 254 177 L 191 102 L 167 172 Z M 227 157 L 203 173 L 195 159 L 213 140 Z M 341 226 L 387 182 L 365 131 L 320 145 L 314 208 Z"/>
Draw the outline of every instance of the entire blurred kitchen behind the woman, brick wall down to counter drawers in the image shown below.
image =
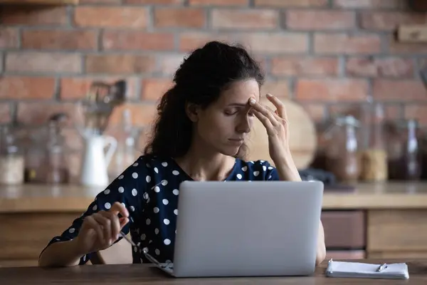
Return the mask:
<path fill-rule="evenodd" d="M 215 39 L 285 103 L 302 177 L 325 182 L 328 258 L 427 256 L 426 1 L 0 0 L 0 266 L 37 264 Z M 259 123 L 251 144 L 269 160 Z"/>

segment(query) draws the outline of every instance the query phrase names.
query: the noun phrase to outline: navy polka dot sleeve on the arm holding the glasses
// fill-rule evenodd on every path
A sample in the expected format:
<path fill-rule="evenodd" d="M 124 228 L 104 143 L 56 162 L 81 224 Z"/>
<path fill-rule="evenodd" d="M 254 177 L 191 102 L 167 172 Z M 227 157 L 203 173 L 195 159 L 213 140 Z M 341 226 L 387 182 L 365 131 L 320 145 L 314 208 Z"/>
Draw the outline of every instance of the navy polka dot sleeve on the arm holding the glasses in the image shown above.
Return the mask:
<path fill-rule="evenodd" d="M 142 157 L 139 157 L 133 165 L 127 167 L 119 177 L 115 178 L 115 180 L 113 180 L 105 190 L 96 195 L 88 209 L 86 209 L 80 217 L 75 219 L 70 227 L 65 229 L 60 236 L 53 237 L 41 253 L 43 253 L 43 251 L 51 244 L 56 242 L 67 242 L 77 237 L 85 217 L 101 210 L 107 211 L 115 202 L 125 204 L 125 207 L 130 214 L 130 222 L 122 229 L 122 232 L 127 234 L 130 231 L 132 224 L 139 224 L 139 217 L 142 215 L 142 205 L 144 205 L 142 202 L 142 193 L 144 192 L 144 188 L 147 183 L 145 180 L 146 173 L 147 168 L 145 166 L 145 162 Z M 122 237 L 120 237 L 116 242 L 120 241 L 120 239 L 122 239 Z M 80 257 L 79 265 L 83 265 L 88 262 L 92 254 L 94 253 L 90 252 L 89 254 Z"/>

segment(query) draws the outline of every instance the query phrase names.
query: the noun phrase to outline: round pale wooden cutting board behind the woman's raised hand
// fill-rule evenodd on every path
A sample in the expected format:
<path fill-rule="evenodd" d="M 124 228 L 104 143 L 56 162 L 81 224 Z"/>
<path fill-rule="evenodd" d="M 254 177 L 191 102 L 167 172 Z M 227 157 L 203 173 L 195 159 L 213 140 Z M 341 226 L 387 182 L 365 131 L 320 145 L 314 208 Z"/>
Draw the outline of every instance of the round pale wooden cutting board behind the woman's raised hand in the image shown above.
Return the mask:
<path fill-rule="evenodd" d="M 280 100 L 285 104 L 285 110 L 288 114 L 289 145 L 293 160 L 298 170 L 305 169 L 314 159 L 317 148 L 315 123 L 304 108 L 295 101 L 283 98 L 280 98 Z M 261 103 L 275 110 L 275 107 L 267 98 L 262 98 Z M 249 134 L 248 147 L 248 160 L 268 160 L 270 164 L 274 165 L 268 154 L 267 131 L 258 118 L 253 120 L 253 129 Z"/>

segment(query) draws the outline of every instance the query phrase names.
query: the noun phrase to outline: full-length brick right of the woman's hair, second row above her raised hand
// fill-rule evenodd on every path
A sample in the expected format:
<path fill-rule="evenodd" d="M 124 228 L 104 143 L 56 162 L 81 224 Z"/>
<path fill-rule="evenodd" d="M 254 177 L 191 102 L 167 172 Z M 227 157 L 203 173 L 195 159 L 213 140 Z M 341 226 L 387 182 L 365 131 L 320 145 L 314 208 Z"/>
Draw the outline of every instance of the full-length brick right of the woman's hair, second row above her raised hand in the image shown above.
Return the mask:
<path fill-rule="evenodd" d="M 271 73 L 276 76 L 333 76 L 338 73 L 338 58 L 306 56 L 272 58 Z"/>

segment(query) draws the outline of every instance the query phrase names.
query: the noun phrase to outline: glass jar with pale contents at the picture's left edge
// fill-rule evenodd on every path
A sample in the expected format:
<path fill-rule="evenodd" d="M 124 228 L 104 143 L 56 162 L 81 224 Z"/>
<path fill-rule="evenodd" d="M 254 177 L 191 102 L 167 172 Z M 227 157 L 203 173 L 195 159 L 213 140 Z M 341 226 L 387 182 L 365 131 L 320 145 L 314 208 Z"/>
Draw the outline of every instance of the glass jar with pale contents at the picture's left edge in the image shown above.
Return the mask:
<path fill-rule="evenodd" d="M 24 155 L 8 125 L 0 127 L 0 184 L 23 183 Z"/>

